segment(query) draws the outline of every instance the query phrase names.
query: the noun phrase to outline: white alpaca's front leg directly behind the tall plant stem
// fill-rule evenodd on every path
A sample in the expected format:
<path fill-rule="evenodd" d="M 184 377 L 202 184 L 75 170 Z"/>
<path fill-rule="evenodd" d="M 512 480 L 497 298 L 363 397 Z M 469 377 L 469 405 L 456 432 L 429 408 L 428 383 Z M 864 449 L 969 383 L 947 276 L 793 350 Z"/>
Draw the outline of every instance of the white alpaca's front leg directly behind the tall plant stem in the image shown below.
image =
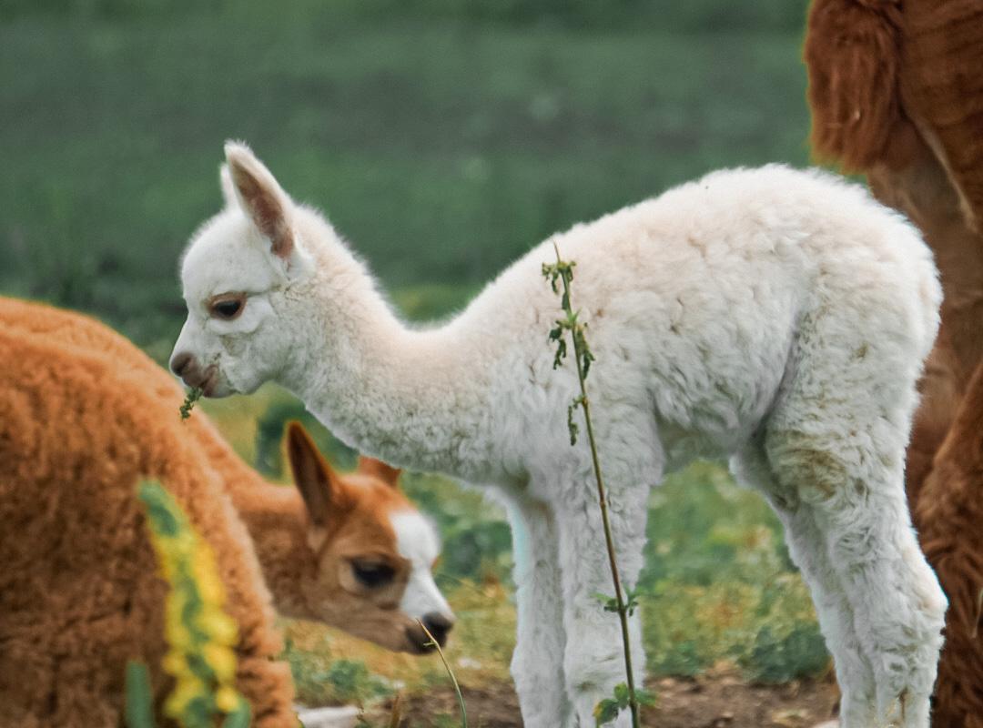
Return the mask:
<path fill-rule="evenodd" d="M 607 473 L 606 473 L 607 475 Z M 622 588 L 633 587 L 642 567 L 648 485 L 630 488 L 621 478 L 609 489 L 608 511 Z M 563 624 L 568 636 L 563 657 L 567 691 L 581 728 L 595 725 L 594 708 L 626 681 L 624 648 L 617 614 L 607 612 L 597 594 L 613 595 L 605 533 L 593 476 L 574 480 L 574 492 L 556 507 L 563 575 Z M 642 687 L 645 654 L 638 612 L 629 618 L 635 686 Z M 622 713 L 614 723 L 631 725 Z"/>

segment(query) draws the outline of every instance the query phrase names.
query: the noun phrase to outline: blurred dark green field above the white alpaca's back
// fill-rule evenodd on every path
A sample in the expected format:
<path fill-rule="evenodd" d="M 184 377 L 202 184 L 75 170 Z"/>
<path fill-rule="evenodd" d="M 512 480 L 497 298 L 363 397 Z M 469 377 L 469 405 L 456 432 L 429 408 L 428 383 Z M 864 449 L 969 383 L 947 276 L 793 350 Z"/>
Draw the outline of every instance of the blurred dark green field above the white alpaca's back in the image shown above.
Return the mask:
<path fill-rule="evenodd" d="M 347 7 L 0 23 L 0 291 L 94 312 L 162 357 L 229 138 L 324 208 L 414 317 L 574 222 L 715 167 L 806 161 L 797 29 Z"/>

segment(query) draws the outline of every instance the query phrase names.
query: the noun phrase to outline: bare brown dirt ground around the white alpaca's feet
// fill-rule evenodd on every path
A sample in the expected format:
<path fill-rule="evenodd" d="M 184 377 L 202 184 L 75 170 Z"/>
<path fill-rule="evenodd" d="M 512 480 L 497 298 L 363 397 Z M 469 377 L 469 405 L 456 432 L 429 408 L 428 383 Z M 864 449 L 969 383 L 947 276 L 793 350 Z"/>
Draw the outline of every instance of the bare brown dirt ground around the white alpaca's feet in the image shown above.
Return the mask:
<path fill-rule="evenodd" d="M 811 728 L 833 716 L 836 693 L 832 682 L 787 685 L 748 685 L 732 673 L 704 675 L 692 680 L 665 678 L 646 687 L 658 696 L 643 712 L 643 724 L 652 728 Z M 508 683 L 462 685 L 469 726 L 514 728 L 521 726 L 519 703 Z M 387 711 L 391 703 L 384 706 Z M 459 725 L 457 699 L 450 688 L 434 689 L 427 696 L 403 699 L 400 726 L 416 728 Z M 373 716 L 373 725 L 382 713 Z M 379 721 L 377 724 L 387 725 Z"/>

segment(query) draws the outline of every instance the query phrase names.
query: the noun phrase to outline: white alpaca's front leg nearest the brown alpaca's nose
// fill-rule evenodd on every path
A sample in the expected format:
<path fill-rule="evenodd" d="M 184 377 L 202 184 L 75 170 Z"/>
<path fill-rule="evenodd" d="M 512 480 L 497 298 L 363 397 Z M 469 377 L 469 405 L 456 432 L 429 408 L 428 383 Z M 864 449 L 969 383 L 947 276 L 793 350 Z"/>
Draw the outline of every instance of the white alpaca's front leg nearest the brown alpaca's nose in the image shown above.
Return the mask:
<path fill-rule="evenodd" d="M 528 728 L 570 725 L 563 679 L 563 604 L 559 534 L 548 508 L 520 499 L 508 504 L 518 606 L 512 679 Z"/>

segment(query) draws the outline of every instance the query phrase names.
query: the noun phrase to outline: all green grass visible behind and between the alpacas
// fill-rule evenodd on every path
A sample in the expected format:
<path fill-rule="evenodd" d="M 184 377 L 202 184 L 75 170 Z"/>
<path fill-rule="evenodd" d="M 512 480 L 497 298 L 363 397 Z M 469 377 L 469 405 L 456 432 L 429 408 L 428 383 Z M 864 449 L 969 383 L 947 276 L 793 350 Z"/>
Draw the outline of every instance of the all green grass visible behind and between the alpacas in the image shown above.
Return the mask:
<path fill-rule="evenodd" d="M 0 0 L 0 292 L 93 313 L 163 361 L 178 259 L 236 138 L 328 213 L 408 318 L 445 316 L 574 222 L 713 168 L 806 163 L 804 15 L 804 0 Z M 204 409 L 282 475 L 298 403 L 266 388 Z M 475 493 L 406 483 L 444 535 L 456 667 L 504 677 L 507 527 Z M 651 505 L 650 671 L 824 668 L 760 499 L 698 464 Z M 305 700 L 442 679 L 432 660 L 288 632 Z"/>

